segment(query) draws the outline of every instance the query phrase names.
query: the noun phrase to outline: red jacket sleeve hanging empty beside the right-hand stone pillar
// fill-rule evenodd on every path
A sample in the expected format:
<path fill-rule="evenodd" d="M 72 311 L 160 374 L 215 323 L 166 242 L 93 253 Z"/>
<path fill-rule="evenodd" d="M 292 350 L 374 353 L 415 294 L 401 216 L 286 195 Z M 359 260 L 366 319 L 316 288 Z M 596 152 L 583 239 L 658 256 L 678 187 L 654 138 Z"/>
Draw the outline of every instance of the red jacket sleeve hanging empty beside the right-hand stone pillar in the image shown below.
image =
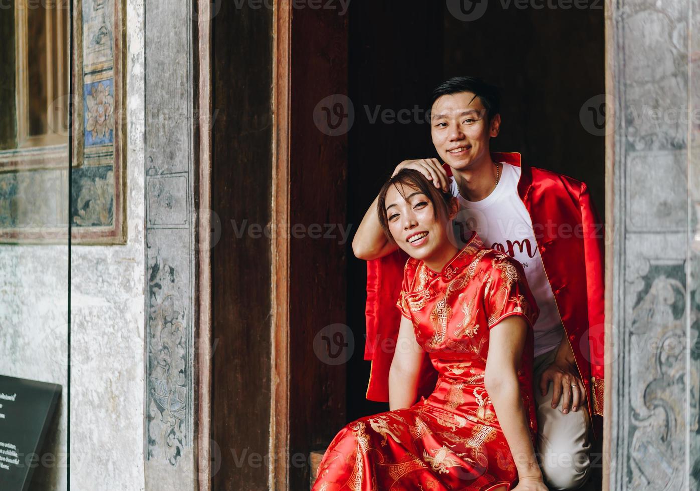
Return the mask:
<path fill-rule="evenodd" d="M 605 273 L 603 222 L 596 212 L 585 183 L 579 197 L 586 263 L 589 342 L 591 353 L 591 406 L 603 415 L 605 378 Z"/>

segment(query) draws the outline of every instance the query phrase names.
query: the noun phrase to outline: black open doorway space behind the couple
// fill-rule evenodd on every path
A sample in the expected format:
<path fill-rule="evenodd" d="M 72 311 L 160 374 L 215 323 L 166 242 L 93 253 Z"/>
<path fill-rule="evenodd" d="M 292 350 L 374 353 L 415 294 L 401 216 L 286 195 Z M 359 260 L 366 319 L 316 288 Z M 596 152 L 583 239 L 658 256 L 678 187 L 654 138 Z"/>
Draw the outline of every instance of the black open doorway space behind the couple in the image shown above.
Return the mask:
<path fill-rule="evenodd" d="M 503 124 L 492 150 L 521 152 L 523 162 L 584 180 L 603 215 L 605 138 L 580 120 L 586 101 L 605 93 L 603 6 L 519 8 L 489 2 L 478 18 L 452 12 L 454 2 L 396 8 L 355 2 L 349 10 L 348 222 L 353 231 L 381 183 L 403 159 L 437 157 L 426 110 L 435 85 L 472 75 L 502 90 Z M 484 2 L 485 3 L 485 2 Z M 563 2 L 562 2 L 563 3 Z M 538 3 L 535 3 L 537 6 Z M 410 110 L 407 122 L 382 118 Z M 384 119 L 384 120 L 383 120 Z M 406 118 L 403 118 L 405 121 Z M 347 377 L 347 420 L 388 410 L 367 401 L 370 362 L 363 360 L 366 266 L 348 257 L 348 324 L 356 339 Z"/>

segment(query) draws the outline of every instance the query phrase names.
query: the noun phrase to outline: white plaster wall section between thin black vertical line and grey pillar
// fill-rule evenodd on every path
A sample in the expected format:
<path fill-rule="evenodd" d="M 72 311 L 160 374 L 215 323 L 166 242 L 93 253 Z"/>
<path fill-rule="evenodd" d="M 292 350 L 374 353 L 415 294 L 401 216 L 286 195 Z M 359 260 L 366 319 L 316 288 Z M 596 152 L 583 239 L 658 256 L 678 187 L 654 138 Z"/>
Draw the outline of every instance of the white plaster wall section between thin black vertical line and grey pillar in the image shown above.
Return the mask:
<path fill-rule="evenodd" d="M 74 490 L 144 489 L 144 0 L 126 25 L 127 243 L 71 250 Z"/>

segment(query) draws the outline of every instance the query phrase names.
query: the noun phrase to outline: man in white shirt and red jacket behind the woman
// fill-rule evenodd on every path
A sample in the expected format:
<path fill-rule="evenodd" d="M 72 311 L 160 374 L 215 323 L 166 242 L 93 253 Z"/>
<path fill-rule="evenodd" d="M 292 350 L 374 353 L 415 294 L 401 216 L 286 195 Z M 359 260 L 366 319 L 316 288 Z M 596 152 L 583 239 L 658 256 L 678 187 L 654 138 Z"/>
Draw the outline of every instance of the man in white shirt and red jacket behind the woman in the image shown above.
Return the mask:
<path fill-rule="evenodd" d="M 477 78 L 442 83 L 433 92 L 430 132 L 444 166 L 438 159 L 406 160 L 394 173 L 416 169 L 449 190 L 462 207 L 456 236 L 475 229 L 485 245 L 523 264 L 541 312 L 533 326 L 533 380 L 542 473 L 553 488 L 576 489 L 589 477 L 591 414 L 594 437 L 602 436 L 602 226 L 584 183 L 525 166 L 519 154 L 490 152 L 500 128 L 499 99 L 495 87 Z M 384 236 L 376 199 L 353 252 L 367 260 L 367 399 L 386 401 L 406 256 Z M 433 389 L 431 369 L 426 364 L 423 371 L 425 392 Z"/>

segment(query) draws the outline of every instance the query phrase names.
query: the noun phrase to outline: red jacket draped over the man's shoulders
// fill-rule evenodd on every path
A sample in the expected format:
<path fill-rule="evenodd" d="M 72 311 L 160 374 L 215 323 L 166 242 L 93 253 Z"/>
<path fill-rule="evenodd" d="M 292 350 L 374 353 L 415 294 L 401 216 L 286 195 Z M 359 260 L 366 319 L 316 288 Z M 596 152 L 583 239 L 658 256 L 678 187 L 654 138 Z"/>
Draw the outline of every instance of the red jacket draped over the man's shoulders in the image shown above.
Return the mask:
<path fill-rule="evenodd" d="M 588 392 L 589 414 L 603 415 L 604 278 L 603 224 L 587 186 L 573 178 L 521 165 L 519 153 L 492 153 L 494 162 L 521 166 L 518 194 L 533 223 L 542 264 L 552 285 L 556 306 L 577 367 Z M 445 165 L 447 172 L 451 171 Z M 407 255 L 396 250 L 367 262 L 367 339 L 365 360 L 372 360 L 367 399 L 388 401 L 388 371 L 400 313 Z M 419 393 L 427 397 L 437 373 L 426 356 Z M 595 427 L 601 434 L 600 422 Z"/>

